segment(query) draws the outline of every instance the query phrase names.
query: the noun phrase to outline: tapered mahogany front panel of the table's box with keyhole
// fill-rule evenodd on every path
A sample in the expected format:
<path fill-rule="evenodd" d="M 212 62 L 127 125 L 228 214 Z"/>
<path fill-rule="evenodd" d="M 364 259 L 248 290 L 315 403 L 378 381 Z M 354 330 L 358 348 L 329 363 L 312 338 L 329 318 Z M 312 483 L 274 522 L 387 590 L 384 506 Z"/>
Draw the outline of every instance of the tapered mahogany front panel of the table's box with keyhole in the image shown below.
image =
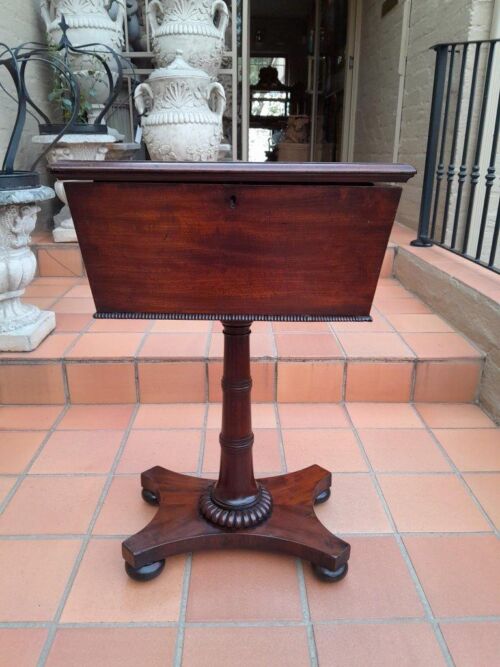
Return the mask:
<path fill-rule="evenodd" d="M 66 183 L 98 313 L 368 316 L 396 186 Z"/>

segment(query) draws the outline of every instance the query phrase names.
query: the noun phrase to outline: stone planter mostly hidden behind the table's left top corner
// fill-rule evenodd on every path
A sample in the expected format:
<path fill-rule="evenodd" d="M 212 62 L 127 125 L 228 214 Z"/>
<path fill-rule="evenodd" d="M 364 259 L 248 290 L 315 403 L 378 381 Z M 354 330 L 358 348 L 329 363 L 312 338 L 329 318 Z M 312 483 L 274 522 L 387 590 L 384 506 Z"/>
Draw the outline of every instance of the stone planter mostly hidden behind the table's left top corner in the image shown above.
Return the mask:
<path fill-rule="evenodd" d="M 33 137 L 33 142 L 50 144 L 54 139 L 53 134 L 40 134 Z M 65 134 L 47 153 L 47 162 L 55 164 L 61 160 L 104 160 L 108 148 L 115 141 L 116 138 L 111 134 Z M 54 241 L 56 243 L 76 241 L 75 226 L 64 193 L 64 185 L 61 181 L 56 181 L 54 188 L 57 196 L 64 203 L 63 208 L 54 216 L 55 227 L 52 232 Z"/>

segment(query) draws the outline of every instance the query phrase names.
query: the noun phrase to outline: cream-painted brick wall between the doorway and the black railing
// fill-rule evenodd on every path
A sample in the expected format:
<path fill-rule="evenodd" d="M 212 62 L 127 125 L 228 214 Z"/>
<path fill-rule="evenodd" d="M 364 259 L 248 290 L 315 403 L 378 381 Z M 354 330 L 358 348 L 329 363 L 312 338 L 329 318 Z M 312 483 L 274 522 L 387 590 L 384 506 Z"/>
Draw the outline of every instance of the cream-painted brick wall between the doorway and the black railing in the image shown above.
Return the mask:
<path fill-rule="evenodd" d="M 405 1 L 411 1 L 411 13 L 398 161 L 414 165 L 418 175 L 404 189 L 398 220 L 416 228 L 434 76 L 435 56 L 429 49 L 438 42 L 487 37 L 493 0 Z M 381 2 L 363 2 L 355 160 L 392 161 L 402 5 L 400 0 L 382 18 Z"/>

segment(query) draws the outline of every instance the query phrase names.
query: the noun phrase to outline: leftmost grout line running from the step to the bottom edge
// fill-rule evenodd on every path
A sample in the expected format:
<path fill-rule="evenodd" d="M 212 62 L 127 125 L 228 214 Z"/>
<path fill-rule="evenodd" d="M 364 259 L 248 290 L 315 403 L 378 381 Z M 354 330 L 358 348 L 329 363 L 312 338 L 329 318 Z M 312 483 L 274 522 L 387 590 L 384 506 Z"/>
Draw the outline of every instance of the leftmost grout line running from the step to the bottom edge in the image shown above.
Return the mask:
<path fill-rule="evenodd" d="M 111 486 L 111 482 L 113 480 L 113 474 L 118 466 L 118 462 L 120 460 L 120 457 L 123 453 L 123 450 L 125 448 L 125 445 L 127 443 L 128 437 L 130 435 L 130 430 L 132 428 L 132 424 L 134 423 L 135 417 L 137 415 L 137 411 L 139 409 L 139 405 L 135 405 L 134 409 L 129 417 L 129 421 L 127 424 L 127 428 L 124 430 L 123 435 L 122 435 L 122 440 L 120 443 L 120 446 L 118 447 L 118 450 L 115 454 L 113 463 L 109 469 L 109 472 L 106 476 L 106 482 L 104 483 L 104 486 L 102 488 L 101 494 L 99 496 L 99 500 L 97 501 L 96 507 L 94 509 L 94 512 L 92 514 L 92 518 L 90 519 L 89 525 L 87 527 L 87 532 L 85 534 L 85 537 L 82 541 L 82 545 L 80 547 L 80 550 L 78 552 L 78 555 L 75 559 L 75 562 L 73 564 L 73 567 L 71 569 L 71 573 L 68 577 L 68 580 L 66 582 L 66 586 L 64 587 L 63 594 L 61 596 L 61 599 L 59 601 L 59 605 L 57 606 L 56 612 L 54 614 L 54 617 L 52 619 L 52 623 L 49 626 L 49 632 L 47 635 L 47 639 L 44 643 L 44 646 L 41 650 L 40 656 L 38 658 L 37 662 L 37 667 L 43 667 L 45 665 L 45 662 L 47 660 L 47 657 L 49 655 L 49 652 L 52 648 L 52 644 L 54 643 L 57 627 L 61 618 L 61 615 L 63 613 L 64 607 L 66 605 L 66 602 L 68 600 L 69 594 L 71 592 L 71 589 L 73 587 L 73 584 L 75 582 L 75 579 L 77 577 L 78 571 L 80 569 L 80 564 L 83 560 L 83 557 L 85 555 L 85 552 L 87 551 L 87 547 L 89 545 L 90 539 L 92 537 L 92 531 L 94 529 L 95 523 L 97 521 L 97 518 L 101 512 L 102 506 L 104 504 L 104 501 L 108 495 L 109 488 Z"/>

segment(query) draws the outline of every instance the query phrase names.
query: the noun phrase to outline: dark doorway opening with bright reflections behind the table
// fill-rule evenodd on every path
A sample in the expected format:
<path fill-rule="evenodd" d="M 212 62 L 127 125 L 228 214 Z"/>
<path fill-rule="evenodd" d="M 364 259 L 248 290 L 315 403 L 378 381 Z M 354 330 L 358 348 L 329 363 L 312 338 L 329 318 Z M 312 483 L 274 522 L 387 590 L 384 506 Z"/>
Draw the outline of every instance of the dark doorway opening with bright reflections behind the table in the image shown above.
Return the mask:
<path fill-rule="evenodd" d="M 243 2 L 243 159 L 348 159 L 352 4 L 349 0 Z"/>

